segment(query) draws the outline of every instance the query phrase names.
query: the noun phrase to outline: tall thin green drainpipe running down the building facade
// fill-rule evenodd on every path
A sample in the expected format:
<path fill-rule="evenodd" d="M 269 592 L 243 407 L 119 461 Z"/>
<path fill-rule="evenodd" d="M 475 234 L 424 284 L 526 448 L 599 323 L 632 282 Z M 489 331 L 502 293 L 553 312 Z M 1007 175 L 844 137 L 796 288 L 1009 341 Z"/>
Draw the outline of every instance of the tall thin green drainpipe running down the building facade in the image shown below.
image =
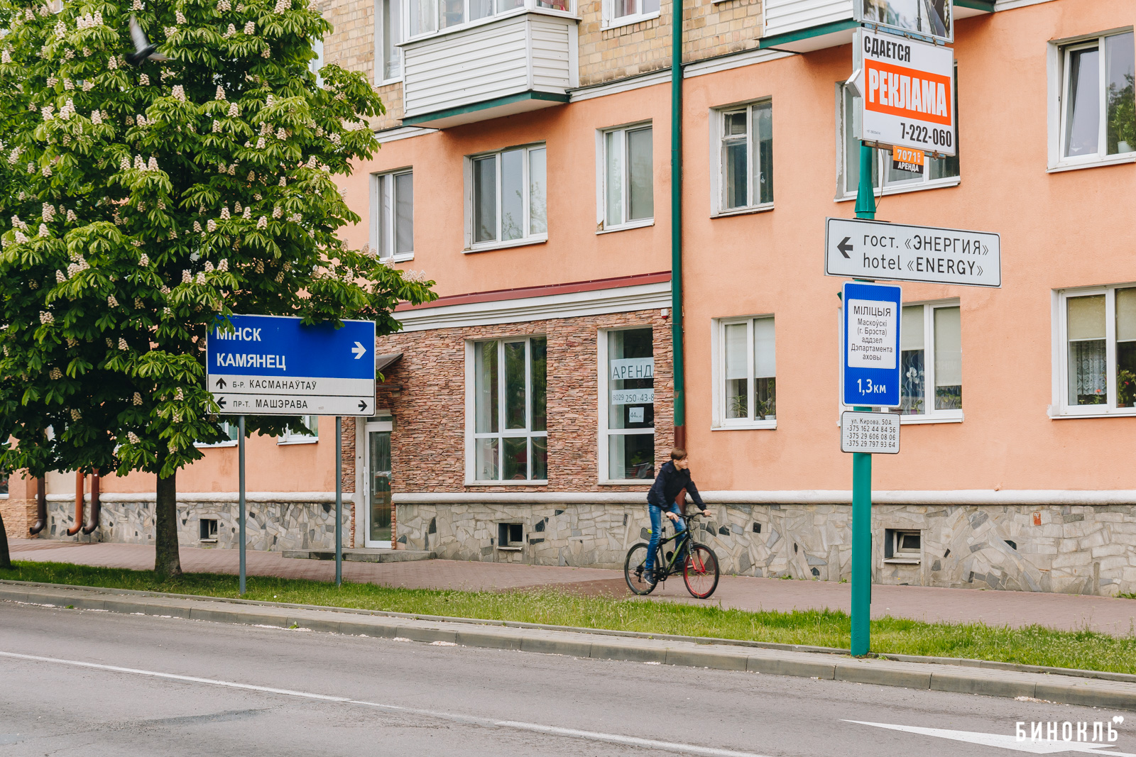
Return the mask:
<path fill-rule="evenodd" d="M 683 351 L 683 0 L 671 0 L 670 32 L 670 343 L 675 371 L 675 446 L 686 446 Z"/>

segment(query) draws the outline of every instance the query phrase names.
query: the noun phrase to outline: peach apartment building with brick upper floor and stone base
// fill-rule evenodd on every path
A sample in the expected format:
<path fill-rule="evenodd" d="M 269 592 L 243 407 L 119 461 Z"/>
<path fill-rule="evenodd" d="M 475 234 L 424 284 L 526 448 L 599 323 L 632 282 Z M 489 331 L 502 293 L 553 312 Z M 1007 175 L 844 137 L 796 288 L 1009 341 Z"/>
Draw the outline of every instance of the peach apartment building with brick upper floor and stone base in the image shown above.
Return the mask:
<path fill-rule="evenodd" d="M 351 544 L 621 566 L 676 439 L 678 193 L 700 536 L 730 572 L 847 577 L 841 279 L 821 255 L 860 178 L 852 5 L 687 0 L 676 183 L 670 3 L 328 2 L 326 60 L 386 103 L 382 149 L 343 183 L 349 239 L 442 295 L 400 309 L 379 412 L 344 422 Z M 1134 0 L 955 0 L 959 155 L 909 171 L 877 151 L 878 219 L 1003 250 L 1001 288 L 903 285 L 878 582 L 1136 590 L 1136 233 L 1114 210 L 1136 190 L 1134 25 Z M 329 468 L 309 447 L 290 470 L 312 483 L 290 486 L 316 523 Z M 232 452 L 183 479 L 231 491 Z M 298 542 L 281 518 L 277 548 Z"/>

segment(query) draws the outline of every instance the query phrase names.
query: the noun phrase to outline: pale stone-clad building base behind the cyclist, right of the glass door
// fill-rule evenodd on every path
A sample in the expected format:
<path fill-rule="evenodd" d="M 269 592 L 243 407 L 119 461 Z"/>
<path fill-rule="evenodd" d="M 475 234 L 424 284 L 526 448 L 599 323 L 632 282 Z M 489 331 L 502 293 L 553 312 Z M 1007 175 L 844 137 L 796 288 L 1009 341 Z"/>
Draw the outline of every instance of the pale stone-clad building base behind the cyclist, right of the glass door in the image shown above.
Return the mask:
<path fill-rule="evenodd" d="M 645 505 L 400 504 L 411 549 L 438 557 L 623 569 L 649 538 Z M 840 581 L 850 577 L 847 505 L 710 505 L 699 525 L 724 573 Z M 1136 505 L 872 507 L 876 583 L 1116 596 L 1136 591 Z M 502 550 L 496 524 L 523 523 Z M 761 531 L 754 531 L 754 524 Z M 885 529 L 918 530 L 918 564 L 885 562 Z M 668 529 L 668 533 L 673 533 Z M 1011 546 L 1009 542 L 1014 542 Z"/>

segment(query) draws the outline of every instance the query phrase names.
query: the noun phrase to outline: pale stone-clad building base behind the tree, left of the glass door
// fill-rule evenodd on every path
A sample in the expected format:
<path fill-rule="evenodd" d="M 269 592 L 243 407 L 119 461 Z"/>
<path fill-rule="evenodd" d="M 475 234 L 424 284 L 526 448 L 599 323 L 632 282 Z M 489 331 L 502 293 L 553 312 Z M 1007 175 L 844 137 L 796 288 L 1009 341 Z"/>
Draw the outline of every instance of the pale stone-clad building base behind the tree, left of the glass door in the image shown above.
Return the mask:
<path fill-rule="evenodd" d="M 34 503 L 33 503 L 34 504 Z M 87 503 L 90 507 L 90 502 Z M 343 544 L 349 546 L 350 502 L 343 505 Z M 335 505 L 302 502 L 248 502 L 245 537 L 249 549 L 334 549 Z M 90 512 L 90 511 L 87 511 Z M 34 511 L 33 511 L 34 513 Z M 217 519 L 217 541 L 202 542 L 201 519 Z M 153 499 L 102 502 L 99 530 L 67 536 L 75 524 L 74 502 L 48 502 L 48 528 L 41 533 L 65 541 L 114 541 L 153 544 Z M 193 502 L 177 505 L 177 540 L 183 547 L 235 549 L 237 542 L 236 502 Z"/>

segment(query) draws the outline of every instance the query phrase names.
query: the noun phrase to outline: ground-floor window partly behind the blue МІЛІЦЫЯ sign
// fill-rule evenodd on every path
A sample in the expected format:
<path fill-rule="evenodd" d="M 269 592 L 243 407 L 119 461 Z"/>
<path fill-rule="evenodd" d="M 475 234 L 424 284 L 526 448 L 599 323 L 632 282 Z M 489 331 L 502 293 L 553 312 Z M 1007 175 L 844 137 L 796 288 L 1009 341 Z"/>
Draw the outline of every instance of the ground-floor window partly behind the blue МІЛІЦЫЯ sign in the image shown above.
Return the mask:
<path fill-rule="evenodd" d="M 900 414 L 962 418 L 962 319 L 958 302 L 904 305 L 900 325 Z"/>

